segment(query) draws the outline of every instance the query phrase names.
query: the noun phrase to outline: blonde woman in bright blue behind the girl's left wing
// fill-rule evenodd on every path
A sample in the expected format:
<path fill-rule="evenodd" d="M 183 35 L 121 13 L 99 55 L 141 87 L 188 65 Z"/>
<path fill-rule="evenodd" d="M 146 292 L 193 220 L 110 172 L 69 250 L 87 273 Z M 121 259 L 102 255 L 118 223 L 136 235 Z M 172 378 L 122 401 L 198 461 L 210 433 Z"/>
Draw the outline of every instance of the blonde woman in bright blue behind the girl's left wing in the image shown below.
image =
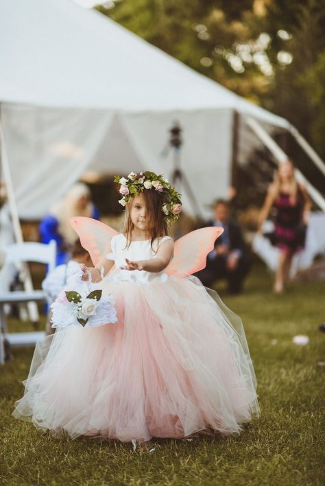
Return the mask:
<path fill-rule="evenodd" d="M 91 201 L 91 191 L 82 182 L 73 184 L 62 201 L 53 205 L 49 214 L 40 222 L 42 242 L 49 243 L 51 240 L 56 240 L 57 265 L 67 263 L 69 251 L 78 239 L 77 233 L 69 224 L 71 216 L 99 219 L 98 209 Z"/>

